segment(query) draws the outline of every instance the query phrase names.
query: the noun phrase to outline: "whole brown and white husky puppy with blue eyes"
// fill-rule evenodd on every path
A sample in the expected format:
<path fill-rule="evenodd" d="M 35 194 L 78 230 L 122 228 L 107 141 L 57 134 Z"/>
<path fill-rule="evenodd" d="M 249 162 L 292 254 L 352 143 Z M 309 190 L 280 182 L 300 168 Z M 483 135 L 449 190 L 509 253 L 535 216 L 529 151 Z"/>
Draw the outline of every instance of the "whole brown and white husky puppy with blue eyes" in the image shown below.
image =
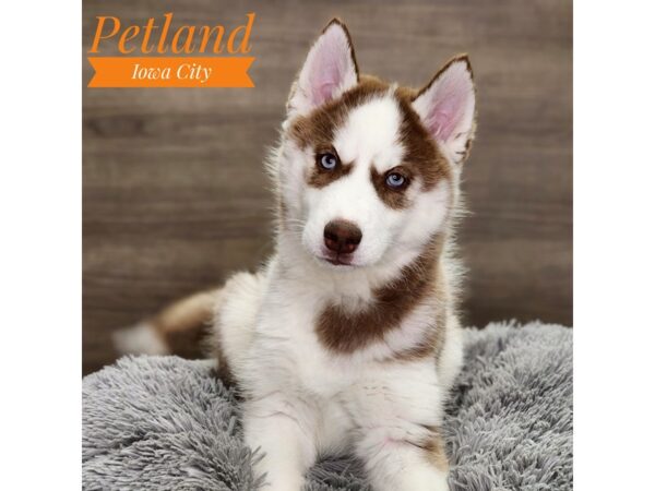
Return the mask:
<path fill-rule="evenodd" d="M 117 345 L 171 352 L 171 335 L 212 319 L 266 489 L 300 490 L 319 455 L 349 452 L 376 491 L 446 490 L 442 406 L 462 364 L 451 239 L 474 129 L 466 56 L 419 91 L 401 87 L 360 74 L 332 21 L 269 163 L 275 254 Z"/>

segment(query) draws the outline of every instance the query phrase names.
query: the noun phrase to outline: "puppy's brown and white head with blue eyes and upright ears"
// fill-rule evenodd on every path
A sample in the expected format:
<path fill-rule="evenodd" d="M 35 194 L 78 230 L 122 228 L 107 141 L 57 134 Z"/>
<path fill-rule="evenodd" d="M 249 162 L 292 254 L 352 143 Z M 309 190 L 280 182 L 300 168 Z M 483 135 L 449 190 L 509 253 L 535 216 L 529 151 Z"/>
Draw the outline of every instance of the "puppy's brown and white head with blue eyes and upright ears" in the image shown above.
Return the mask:
<path fill-rule="evenodd" d="M 420 91 L 360 75 L 332 21 L 291 87 L 274 163 L 281 231 L 326 267 L 420 253 L 448 227 L 475 127 L 466 56 Z"/>

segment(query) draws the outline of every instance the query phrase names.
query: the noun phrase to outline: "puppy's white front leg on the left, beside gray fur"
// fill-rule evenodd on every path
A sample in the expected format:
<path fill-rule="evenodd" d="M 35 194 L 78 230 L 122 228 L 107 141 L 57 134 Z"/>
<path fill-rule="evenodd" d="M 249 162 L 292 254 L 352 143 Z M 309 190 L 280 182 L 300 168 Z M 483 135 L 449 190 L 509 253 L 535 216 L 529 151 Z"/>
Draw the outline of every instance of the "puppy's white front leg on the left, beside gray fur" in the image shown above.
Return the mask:
<path fill-rule="evenodd" d="M 254 471 L 265 475 L 266 491 L 300 491 L 305 472 L 315 460 L 311 416 L 299 410 L 301 407 L 298 402 L 282 399 L 279 393 L 247 404 L 246 443 L 263 455 Z"/>

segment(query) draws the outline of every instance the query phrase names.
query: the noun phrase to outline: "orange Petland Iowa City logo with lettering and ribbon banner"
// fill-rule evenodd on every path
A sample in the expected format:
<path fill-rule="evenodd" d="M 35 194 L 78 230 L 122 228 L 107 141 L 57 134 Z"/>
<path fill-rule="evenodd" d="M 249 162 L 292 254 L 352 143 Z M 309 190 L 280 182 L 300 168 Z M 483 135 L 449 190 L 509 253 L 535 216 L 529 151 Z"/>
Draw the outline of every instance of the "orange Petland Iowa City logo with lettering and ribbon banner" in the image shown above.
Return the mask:
<path fill-rule="evenodd" d="M 171 12 L 145 25 L 97 16 L 88 62 L 90 87 L 254 87 L 250 34 L 254 13 L 241 25 L 181 25 Z"/>

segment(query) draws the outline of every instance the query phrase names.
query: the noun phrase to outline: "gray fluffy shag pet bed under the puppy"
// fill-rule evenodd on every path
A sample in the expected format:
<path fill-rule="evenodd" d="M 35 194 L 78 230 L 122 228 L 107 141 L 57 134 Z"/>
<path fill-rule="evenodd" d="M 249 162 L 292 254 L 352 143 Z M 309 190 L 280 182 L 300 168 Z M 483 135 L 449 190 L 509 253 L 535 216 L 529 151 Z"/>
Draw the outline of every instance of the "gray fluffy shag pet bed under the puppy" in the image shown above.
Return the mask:
<path fill-rule="evenodd" d="M 444 422 L 451 488 L 573 489 L 572 384 L 571 330 L 467 330 Z M 238 398 L 211 361 L 122 358 L 84 379 L 83 405 L 85 490 L 251 491 L 261 483 L 251 471 L 258 456 L 241 441 Z M 354 459 L 320 462 L 307 487 L 369 489 Z"/>

